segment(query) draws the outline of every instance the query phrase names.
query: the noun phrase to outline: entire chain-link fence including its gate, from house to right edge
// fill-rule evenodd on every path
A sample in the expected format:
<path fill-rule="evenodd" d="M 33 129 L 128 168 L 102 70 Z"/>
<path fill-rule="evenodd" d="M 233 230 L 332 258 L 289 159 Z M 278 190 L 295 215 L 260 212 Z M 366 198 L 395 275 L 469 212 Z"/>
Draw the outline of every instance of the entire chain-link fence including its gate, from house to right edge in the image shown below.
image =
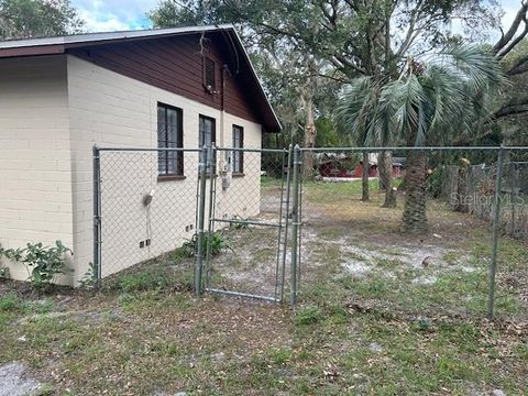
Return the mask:
<path fill-rule="evenodd" d="M 497 246 L 507 242 L 502 231 L 526 239 L 528 178 L 525 164 L 505 154 L 99 148 L 95 263 L 102 278 L 187 254 L 198 294 L 273 301 L 289 295 L 295 304 L 302 276 L 307 298 L 328 287 L 330 296 L 415 316 L 491 316 L 497 285 L 503 310 L 522 309 L 521 292 L 506 282 L 519 277 L 521 263 L 513 265 Z M 482 165 L 470 165 L 472 155 Z"/>

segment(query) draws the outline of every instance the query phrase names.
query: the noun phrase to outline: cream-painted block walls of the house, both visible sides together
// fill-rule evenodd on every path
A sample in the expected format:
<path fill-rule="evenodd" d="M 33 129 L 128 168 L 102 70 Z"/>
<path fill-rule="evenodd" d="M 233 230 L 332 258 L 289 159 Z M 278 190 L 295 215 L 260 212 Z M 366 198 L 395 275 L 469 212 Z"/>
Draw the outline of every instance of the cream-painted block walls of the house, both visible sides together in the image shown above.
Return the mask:
<path fill-rule="evenodd" d="M 232 124 L 244 128 L 246 147 L 261 146 L 261 125 L 133 80 L 70 55 L 0 61 L 0 244 L 62 240 L 74 250 L 75 285 L 92 257 L 92 145 L 155 147 L 157 102 L 183 109 L 184 147 L 198 145 L 199 114 L 217 120 L 217 145 L 231 146 Z M 223 128 L 222 128 L 223 125 Z M 221 160 L 220 160 L 221 162 Z M 197 153 L 185 154 L 185 180 L 157 182 L 156 153 L 103 152 L 103 274 L 157 256 L 195 230 Z M 222 190 L 218 216 L 258 212 L 260 154 L 245 176 Z M 155 190 L 150 212 L 141 204 Z M 150 220 L 150 221 L 148 221 Z M 148 227 L 147 227 L 148 226 Z M 151 238 L 148 249 L 139 241 Z M 6 263 L 18 279 L 25 267 Z"/>

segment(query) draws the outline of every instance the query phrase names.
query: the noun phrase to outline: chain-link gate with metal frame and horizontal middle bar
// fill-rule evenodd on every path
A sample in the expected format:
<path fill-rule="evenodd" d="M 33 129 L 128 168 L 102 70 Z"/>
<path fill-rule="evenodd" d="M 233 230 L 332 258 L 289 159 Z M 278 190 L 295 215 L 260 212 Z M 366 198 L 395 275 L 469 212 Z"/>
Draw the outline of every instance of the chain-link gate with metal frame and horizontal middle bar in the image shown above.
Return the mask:
<path fill-rule="evenodd" d="M 205 290 L 272 301 L 282 301 L 286 287 L 295 290 L 293 161 L 292 148 L 209 150 L 198 207 L 204 251 L 196 270 L 196 282 L 204 271 Z"/>

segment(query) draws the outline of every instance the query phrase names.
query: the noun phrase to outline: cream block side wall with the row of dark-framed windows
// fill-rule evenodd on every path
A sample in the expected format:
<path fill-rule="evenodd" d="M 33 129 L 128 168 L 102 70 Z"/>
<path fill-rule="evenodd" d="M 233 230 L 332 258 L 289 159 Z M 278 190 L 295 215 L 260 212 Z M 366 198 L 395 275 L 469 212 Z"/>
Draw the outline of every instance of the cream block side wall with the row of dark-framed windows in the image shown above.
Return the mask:
<path fill-rule="evenodd" d="M 99 146 L 156 147 L 157 102 L 183 109 L 184 147 L 197 148 L 199 114 L 217 123 L 217 144 L 231 146 L 232 124 L 244 128 L 245 145 L 261 146 L 261 125 L 224 114 L 199 102 L 133 80 L 82 59 L 68 56 L 68 92 L 73 158 L 73 216 L 76 280 L 92 261 L 92 157 Z M 222 131 L 223 121 L 223 131 Z M 257 157 L 256 157 L 257 156 Z M 157 154 L 102 152 L 102 272 L 123 270 L 170 251 L 190 239 L 195 230 L 198 155 L 185 153 L 185 180 L 157 182 Z M 260 155 L 248 163 L 246 176 L 233 180 L 238 188 L 220 191 L 222 212 L 258 212 Z M 220 180 L 219 180 L 220 183 Z M 248 188 L 244 187 L 248 186 Z M 142 196 L 155 190 L 150 212 Z M 231 191 L 245 190 L 248 194 Z M 231 194 L 231 195 L 230 195 Z M 226 196 L 226 197 L 223 197 Z M 230 210 L 231 208 L 231 210 Z M 140 249 L 151 238 L 148 249 Z"/>

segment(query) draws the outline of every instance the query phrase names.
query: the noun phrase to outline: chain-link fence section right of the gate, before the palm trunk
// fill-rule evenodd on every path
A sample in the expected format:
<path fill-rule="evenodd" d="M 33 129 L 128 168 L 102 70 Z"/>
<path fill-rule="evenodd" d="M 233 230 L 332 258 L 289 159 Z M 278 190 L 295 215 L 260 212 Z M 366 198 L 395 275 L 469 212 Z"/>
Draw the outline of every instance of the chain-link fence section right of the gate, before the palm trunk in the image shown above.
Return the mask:
<path fill-rule="evenodd" d="M 501 231 L 526 235 L 528 175 L 505 161 L 506 150 L 301 151 L 305 298 L 328 287 L 329 304 L 349 299 L 358 309 L 415 318 L 526 308 L 526 248 Z"/>

